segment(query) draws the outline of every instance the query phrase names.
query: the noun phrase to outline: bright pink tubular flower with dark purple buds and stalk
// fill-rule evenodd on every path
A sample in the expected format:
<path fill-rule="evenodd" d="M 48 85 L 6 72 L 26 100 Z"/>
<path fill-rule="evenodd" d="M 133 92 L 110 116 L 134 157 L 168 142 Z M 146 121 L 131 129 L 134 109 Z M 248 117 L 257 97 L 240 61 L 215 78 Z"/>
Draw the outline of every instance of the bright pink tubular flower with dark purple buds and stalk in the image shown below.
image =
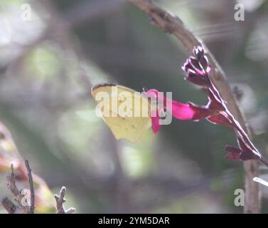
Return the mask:
<path fill-rule="evenodd" d="M 232 160 L 260 160 L 268 166 L 268 162 L 254 147 L 245 130 L 242 129 L 240 123 L 235 120 L 228 110 L 225 100 L 214 86 L 213 81 L 210 80 L 211 67 L 208 64 L 204 49 L 200 46 L 194 48 L 193 56 L 188 58 L 182 68 L 187 73 L 186 80 L 198 86 L 203 86 L 208 91 L 208 103 L 202 106 L 190 102 L 180 103 L 166 98 L 158 90 L 148 90 L 146 95 L 151 98 L 151 125 L 154 134 L 160 130 L 161 119 L 165 116 L 163 114 L 166 114 L 166 111 L 178 120 L 199 121 L 205 118 L 210 123 L 225 125 L 236 130 L 239 148 L 226 145 L 225 150 L 230 151 L 226 158 Z"/>

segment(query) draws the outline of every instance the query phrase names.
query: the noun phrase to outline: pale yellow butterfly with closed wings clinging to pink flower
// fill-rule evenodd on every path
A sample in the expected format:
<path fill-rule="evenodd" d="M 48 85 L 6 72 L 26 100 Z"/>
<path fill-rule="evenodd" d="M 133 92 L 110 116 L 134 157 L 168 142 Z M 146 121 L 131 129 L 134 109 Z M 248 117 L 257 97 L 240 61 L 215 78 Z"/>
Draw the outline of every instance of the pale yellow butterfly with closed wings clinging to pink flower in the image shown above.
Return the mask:
<path fill-rule="evenodd" d="M 124 86 L 100 84 L 92 88 L 97 112 L 114 137 L 137 142 L 151 128 L 150 101 L 142 93 Z"/>

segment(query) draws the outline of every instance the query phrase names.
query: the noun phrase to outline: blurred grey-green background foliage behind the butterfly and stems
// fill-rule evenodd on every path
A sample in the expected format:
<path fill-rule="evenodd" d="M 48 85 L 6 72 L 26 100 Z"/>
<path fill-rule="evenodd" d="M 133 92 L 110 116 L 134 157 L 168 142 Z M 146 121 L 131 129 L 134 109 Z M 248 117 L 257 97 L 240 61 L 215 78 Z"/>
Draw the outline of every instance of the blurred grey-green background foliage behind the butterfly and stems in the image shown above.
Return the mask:
<path fill-rule="evenodd" d="M 245 21 L 234 19 L 237 1 L 155 2 L 218 59 L 267 157 L 268 1 L 239 1 Z M 23 4 L 31 6 L 30 21 L 21 19 Z M 183 80 L 186 58 L 176 38 L 128 1 L 1 0 L 0 121 L 53 193 L 68 188 L 67 206 L 77 212 L 240 213 L 234 192 L 244 188 L 244 175 L 242 162 L 224 158 L 224 146 L 235 145 L 229 129 L 173 120 L 132 144 L 115 140 L 95 115 L 90 89 L 97 83 L 205 104 L 205 93 Z M 267 180 L 267 168 L 259 169 Z M 0 183 L 0 197 L 8 195 L 6 173 Z M 267 197 L 262 187 L 262 212 Z"/>

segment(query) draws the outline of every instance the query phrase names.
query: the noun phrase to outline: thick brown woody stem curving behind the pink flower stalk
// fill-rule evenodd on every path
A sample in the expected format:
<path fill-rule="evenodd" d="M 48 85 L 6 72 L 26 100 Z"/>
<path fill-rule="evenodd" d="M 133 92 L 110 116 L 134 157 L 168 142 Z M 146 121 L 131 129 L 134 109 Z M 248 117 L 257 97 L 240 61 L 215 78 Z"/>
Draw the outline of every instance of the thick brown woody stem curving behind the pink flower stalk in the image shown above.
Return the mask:
<path fill-rule="evenodd" d="M 238 120 L 245 133 L 247 133 L 247 128 L 245 125 L 245 120 L 242 117 L 240 109 L 237 106 L 234 96 L 232 95 L 232 90 L 227 83 L 225 73 L 220 67 L 218 62 L 215 60 L 214 56 L 208 51 L 208 48 L 196 38 L 191 31 L 186 28 L 181 19 L 178 16 L 174 16 L 168 11 L 159 8 L 149 0 L 130 0 L 134 5 L 139 7 L 144 13 L 148 14 L 151 19 L 151 24 L 161 28 L 162 30 L 172 33 L 176 36 L 183 46 L 192 52 L 195 46 L 203 46 L 205 51 L 208 53 L 208 58 L 210 64 L 213 67 L 211 73 L 211 80 L 213 84 L 220 92 L 221 97 L 227 101 L 227 108 L 230 110 L 235 119 Z M 252 181 L 253 177 L 258 175 L 258 164 L 255 160 L 248 160 L 244 162 L 245 169 L 245 213 L 259 213 L 260 212 L 260 202 L 259 202 L 259 187 L 256 182 Z"/>

